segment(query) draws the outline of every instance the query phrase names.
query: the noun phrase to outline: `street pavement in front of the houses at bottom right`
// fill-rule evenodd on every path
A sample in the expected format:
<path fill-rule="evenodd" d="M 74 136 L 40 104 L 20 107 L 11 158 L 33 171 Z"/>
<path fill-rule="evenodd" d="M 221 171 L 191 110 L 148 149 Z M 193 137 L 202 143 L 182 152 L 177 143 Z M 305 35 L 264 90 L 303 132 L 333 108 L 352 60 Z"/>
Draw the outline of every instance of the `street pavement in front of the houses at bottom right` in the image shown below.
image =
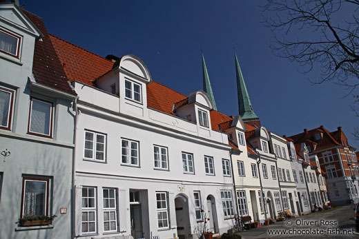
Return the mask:
<path fill-rule="evenodd" d="M 298 216 L 272 225 L 241 231 L 244 239 L 262 238 L 359 238 L 353 208 L 345 205 L 329 211 Z"/>

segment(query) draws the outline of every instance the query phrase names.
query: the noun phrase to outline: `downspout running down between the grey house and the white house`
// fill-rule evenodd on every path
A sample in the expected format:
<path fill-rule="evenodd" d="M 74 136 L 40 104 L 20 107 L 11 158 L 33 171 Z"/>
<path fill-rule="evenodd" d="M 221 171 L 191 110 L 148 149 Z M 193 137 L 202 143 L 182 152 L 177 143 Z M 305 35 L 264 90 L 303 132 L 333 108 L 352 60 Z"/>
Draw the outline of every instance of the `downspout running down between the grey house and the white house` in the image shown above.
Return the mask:
<path fill-rule="evenodd" d="M 79 115 L 79 110 L 77 109 L 77 98 L 75 98 L 74 100 L 74 108 L 75 108 L 75 118 L 74 118 L 74 121 L 75 121 L 75 128 L 74 128 L 74 144 L 76 145 L 76 131 L 77 131 L 77 123 L 79 122 L 78 121 L 78 115 Z M 71 188 L 72 188 L 72 200 L 71 200 L 71 203 L 72 203 L 72 207 L 71 207 L 71 220 L 72 220 L 72 228 L 71 228 L 71 231 L 72 231 L 72 238 L 77 238 L 76 236 L 76 231 L 75 231 L 75 225 L 76 225 L 76 221 L 75 221 L 75 200 L 76 200 L 76 184 L 75 184 L 75 156 L 76 156 L 76 149 L 77 147 L 75 147 L 72 151 L 72 185 L 71 185 Z"/>

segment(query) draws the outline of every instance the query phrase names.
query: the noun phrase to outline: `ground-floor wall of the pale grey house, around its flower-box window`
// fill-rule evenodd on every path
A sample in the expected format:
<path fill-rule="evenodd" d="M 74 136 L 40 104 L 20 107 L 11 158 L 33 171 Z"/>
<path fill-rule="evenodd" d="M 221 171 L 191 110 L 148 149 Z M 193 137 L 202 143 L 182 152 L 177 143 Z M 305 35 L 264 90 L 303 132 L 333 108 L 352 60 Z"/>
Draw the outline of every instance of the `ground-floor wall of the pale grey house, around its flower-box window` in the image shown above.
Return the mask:
<path fill-rule="evenodd" d="M 17 140 L 14 140 L 17 141 Z M 70 198 L 72 180 L 72 150 L 48 144 L 22 141 L 16 143 L 9 140 L 8 150 L 11 155 L 0 165 L 3 165 L 3 187 L 1 191 L 0 238 L 70 238 Z M 12 145 L 10 144 L 12 143 Z M 15 148 L 26 145 L 22 149 Z M 29 155 L 23 151 L 28 150 Z M 31 152 L 35 152 L 32 154 Z M 52 221 L 52 229 L 31 229 L 15 231 L 22 228 L 17 225 L 21 215 L 21 196 L 23 191 L 23 176 L 45 176 L 50 178 L 49 216 L 57 215 Z M 4 205 L 6 203 L 6 205 Z M 67 214 L 60 214 L 60 208 L 66 207 Z M 6 212 L 5 212 L 6 211 Z"/>

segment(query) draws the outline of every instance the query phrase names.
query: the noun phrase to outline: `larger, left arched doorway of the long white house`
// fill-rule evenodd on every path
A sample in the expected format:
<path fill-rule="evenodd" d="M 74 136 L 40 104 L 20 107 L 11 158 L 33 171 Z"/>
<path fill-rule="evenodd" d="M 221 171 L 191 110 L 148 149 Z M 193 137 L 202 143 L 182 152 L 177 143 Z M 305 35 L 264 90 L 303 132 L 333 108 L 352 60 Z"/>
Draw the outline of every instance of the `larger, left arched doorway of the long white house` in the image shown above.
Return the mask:
<path fill-rule="evenodd" d="M 188 197 L 178 194 L 175 198 L 177 235 L 179 239 L 188 238 L 191 235 L 191 224 L 188 211 Z"/>

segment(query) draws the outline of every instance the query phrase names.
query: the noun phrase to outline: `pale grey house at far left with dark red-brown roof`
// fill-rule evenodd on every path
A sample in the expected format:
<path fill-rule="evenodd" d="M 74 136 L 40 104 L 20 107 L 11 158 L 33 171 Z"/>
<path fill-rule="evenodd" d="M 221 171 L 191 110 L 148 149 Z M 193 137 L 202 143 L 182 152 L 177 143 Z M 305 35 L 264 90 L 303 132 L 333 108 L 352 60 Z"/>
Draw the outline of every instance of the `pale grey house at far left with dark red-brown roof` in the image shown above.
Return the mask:
<path fill-rule="evenodd" d="M 67 81 L 42 20 L 0 3 L 0 238 L 72 236 L 77 96 Z"/>

